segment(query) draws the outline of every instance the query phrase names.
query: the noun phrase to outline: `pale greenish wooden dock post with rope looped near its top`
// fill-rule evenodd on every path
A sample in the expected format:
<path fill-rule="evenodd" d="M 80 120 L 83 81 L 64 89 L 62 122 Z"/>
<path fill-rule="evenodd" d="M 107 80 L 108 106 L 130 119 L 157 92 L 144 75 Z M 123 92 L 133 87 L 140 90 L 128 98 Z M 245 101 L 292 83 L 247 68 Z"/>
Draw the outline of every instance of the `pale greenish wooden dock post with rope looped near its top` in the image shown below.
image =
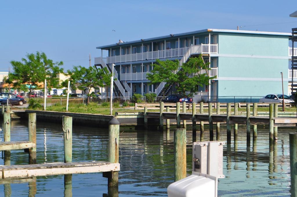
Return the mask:
<path fill-rule="evenodd" d="M 72 162 L 72 117 L 63 116 L 64 162 Z"/>

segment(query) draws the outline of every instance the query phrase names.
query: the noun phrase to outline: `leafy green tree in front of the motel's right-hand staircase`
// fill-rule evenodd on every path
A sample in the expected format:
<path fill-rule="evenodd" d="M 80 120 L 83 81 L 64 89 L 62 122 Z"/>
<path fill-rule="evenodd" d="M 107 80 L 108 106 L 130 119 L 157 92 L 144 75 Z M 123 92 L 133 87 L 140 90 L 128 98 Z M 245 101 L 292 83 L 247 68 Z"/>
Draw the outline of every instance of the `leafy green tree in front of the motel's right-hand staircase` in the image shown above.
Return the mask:
<path fill-rule="evenodd" d="M 179 61 L 160 61 L 156 60 L 153 65 L 154 69 L 147 74 L 147 79 L 150 84 L 166 82 L 165 88 L 173 85 L 176 88 L 176 93 L 185 94 L 190 92 L 191 95 L 198 91 L 199 86 L 208 85 L 209 80 L 216 77 L 209 77 L 209 63 L 204 63 L 201 55 L 195 58 L 189 58 L 186 63 L 179 66 Z M 202 70 L 206 70 L 203 72 Z M 190 75 L 195 74 L 193 77 Z"/>

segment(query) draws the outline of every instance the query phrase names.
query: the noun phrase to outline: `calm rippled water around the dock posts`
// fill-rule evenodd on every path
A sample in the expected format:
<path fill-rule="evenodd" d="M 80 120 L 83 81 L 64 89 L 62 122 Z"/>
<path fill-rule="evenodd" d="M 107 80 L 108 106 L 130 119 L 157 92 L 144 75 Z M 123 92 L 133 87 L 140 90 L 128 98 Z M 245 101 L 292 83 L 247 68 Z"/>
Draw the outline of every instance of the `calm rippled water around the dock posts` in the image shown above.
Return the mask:
<path fill-rule="evenodd" d="M 2 123 L 1 123 L 2 125 Z M 173 129 L 173 128 L 172 128 Z M 187 173 L 192 168 L 192 131 L 187 132 Z M 199 130 L 199 129 L 198 129 Z M 221 126 L 221 140 L 226 140 Z M 220 196 L 289 196 L 289 132 L 279 129 L 279 140 L 269 151 L 268 130 L 258 129 L 257 143 L 246 143 L 245 128 L 239 127 L 238 142 L 224 146 L 224 179 L 219 179 Z M 37 163 L 64 162 L 61 124 L 37 122 Z M 108 130 L 73 126 L 72 161 L 108 161 Z M 200 133 L 197 131 L 199 141 Z M 233 135 L 232 135 L 233 136 Z M 0 133 L 3 140 L 3 132 Z M 208 132 L 204 134 L 209 140 Z M 27 121 L 12 121 L 11 140 L 28 139 Z M 215 139 L 215 138 L 214 138 Z M 119 196 L 167 196 L 173 182 L 173 130 L 159 133 L 141 128 L 120 128 Z M 4 164 L 0 158 L 0 165 Z M 11 165 L 28 164 L 28 154 L 12 151 Z M 31 184 L 6 184 L 11 196 L 28 196 Z M 64 175 L 37 177 L 35 196 L 64 196 Z M 6 190 L 7 191 L 7 190 Z M 102 196 L 107 178 L 102 173 L 73 174 L 73 196 Z M 4 196 L 4 185 L 0 185 Z M 8 193 L 7 193 L 7 196 Z"/>

